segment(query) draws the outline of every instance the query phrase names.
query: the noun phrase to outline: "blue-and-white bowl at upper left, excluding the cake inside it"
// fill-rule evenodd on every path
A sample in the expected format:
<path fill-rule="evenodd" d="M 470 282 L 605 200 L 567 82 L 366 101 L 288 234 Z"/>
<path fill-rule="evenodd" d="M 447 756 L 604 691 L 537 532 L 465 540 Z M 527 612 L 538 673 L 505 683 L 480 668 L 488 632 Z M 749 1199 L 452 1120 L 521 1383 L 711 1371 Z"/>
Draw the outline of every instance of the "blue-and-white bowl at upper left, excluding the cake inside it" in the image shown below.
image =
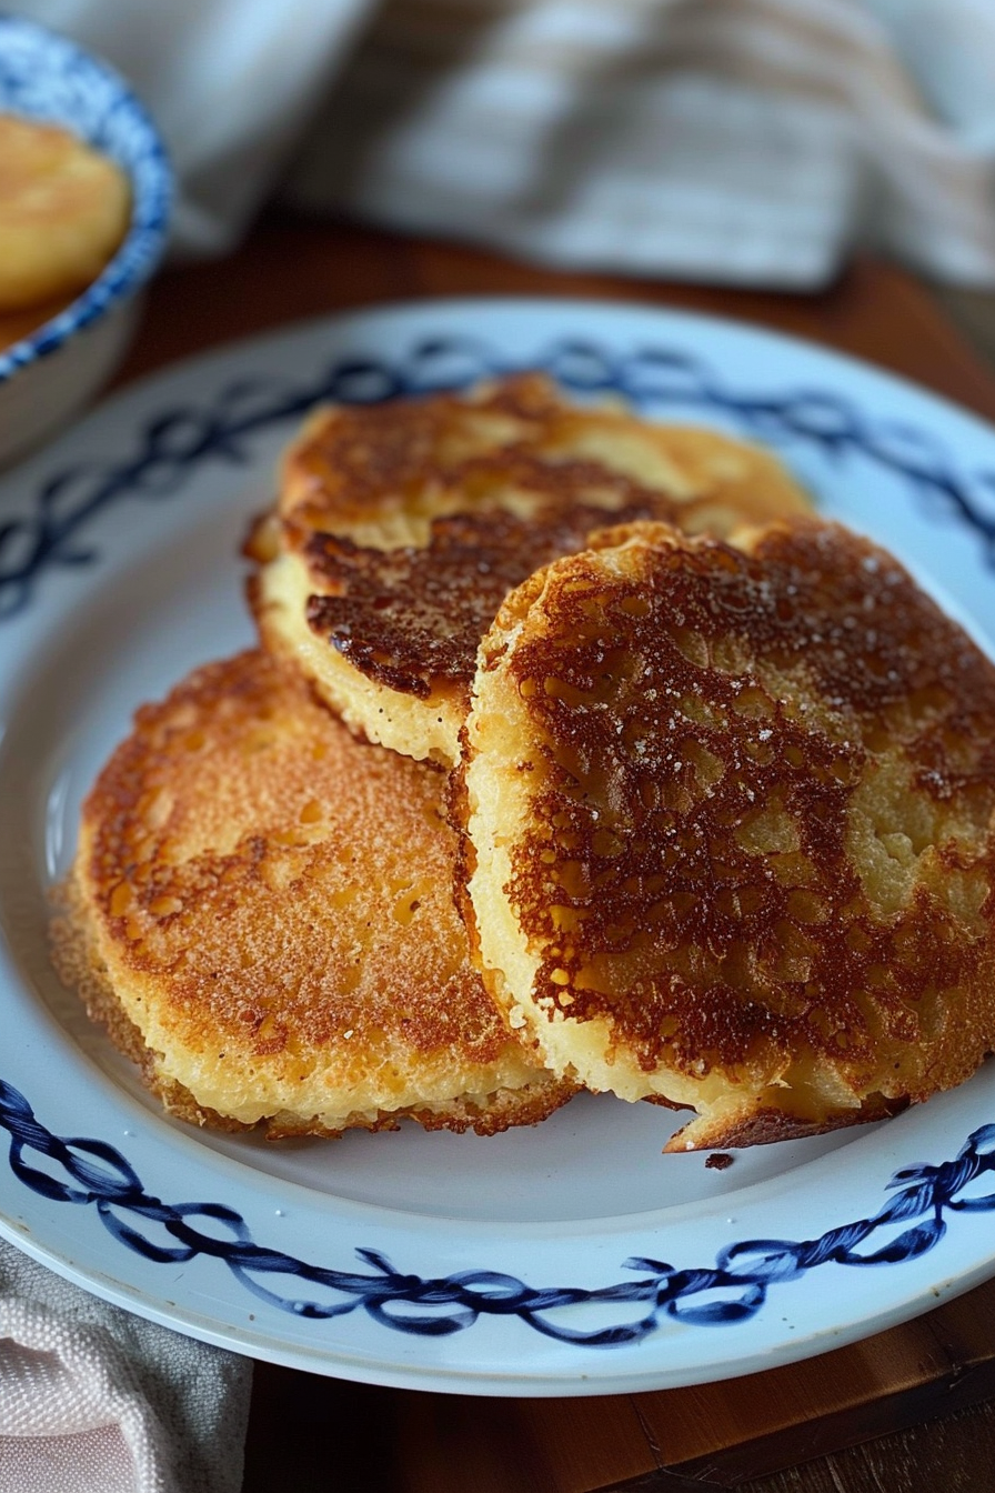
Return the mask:
<path fill-rule="evenodd" d="M 51 321 L 0 349 L 4 464 L 66 424 L 121 361 L 139 291 L 166 248 L 172 173 L 155 125 L 113 69 L 10 15 L 0 15 L 0 112 L 64 125 L 131 182 L 131 225 L 103 273 Z"/>

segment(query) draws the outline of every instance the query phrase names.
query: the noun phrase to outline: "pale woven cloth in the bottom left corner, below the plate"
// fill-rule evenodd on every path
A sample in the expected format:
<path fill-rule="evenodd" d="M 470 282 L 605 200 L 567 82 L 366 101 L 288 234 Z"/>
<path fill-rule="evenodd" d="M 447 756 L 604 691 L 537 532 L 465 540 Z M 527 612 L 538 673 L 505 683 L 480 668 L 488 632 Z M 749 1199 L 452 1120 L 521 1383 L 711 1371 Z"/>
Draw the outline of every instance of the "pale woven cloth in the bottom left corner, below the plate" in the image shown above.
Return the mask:
<path fill-rule="evenodd" d="M 251 1384 L 0 1239 L 0 1493 L 239 1493 Z"/>

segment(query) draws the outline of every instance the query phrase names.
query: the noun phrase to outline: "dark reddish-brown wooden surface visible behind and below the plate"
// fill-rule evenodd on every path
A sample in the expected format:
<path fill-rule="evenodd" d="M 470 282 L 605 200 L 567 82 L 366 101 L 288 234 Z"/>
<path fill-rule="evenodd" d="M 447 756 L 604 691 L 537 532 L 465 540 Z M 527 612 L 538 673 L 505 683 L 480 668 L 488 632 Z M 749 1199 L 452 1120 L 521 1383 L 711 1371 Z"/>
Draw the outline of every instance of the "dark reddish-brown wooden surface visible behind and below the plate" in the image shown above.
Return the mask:
<path fill-rule="evenodd" d="M 152 287 L 121 379 L 343 308 L 431 296 L 594 296 L 744 318 L 846 349 L 995 418 L 995 372 L 913 276 L 858 261 L 819 296 L 562 275 L 286 216 Z M 995 1241 L 994 1241 L 995 1244 Z M 257 1365 L 245 1493 L 991 1493 L 995 1282 L 819 1359 L 655 1394 L 489 1400 Z"/>

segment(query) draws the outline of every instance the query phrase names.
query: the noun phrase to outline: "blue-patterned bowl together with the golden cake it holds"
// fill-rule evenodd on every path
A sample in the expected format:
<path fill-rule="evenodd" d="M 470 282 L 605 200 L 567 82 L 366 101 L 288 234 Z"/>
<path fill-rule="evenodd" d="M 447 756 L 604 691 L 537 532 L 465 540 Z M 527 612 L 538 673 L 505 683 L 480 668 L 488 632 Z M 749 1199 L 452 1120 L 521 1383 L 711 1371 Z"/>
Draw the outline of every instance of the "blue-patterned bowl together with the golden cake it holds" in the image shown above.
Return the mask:
<path fill-rule="evenodd" d="M 57 431 L 118 366 L 170 197 L 158 131 L 125 81 L 0 15 L 0 463 Z"/>

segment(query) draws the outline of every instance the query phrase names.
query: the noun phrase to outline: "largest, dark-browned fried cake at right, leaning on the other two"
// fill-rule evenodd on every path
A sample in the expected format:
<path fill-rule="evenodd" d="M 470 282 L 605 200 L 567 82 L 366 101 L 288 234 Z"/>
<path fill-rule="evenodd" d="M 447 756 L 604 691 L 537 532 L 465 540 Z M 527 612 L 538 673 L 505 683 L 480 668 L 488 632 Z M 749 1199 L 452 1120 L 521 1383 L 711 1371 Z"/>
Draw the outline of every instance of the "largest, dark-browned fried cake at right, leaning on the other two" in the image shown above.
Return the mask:
<path fill-rule="evenodd" d="M 480 649 L 456 811 L 492 993 L 668 1150 L 898 1111 L 995 1045 L 995 666 L 816 520 L 609 530 Z"/>

